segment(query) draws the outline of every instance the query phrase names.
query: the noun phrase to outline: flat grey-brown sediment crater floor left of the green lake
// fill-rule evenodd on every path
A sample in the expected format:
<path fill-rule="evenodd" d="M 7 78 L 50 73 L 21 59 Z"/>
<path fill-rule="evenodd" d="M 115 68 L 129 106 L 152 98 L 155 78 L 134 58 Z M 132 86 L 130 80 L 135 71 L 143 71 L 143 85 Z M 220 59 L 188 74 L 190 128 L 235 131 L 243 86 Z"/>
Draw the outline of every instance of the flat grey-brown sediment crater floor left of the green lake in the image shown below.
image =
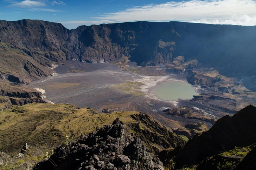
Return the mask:
<path fill-rule="evenodd" d="M 147 98 L 161 101 L 156 95 L 149 93 L 149 90 L 157 84 L 165 81 L 177 80 L 173 75 L 168 76 L 145 76 L 128 71 L 112 64 L 104 64 L 104 67 L 92 72 L 66 73 L 47 77 L 46 79 L 35 81 L 31 87 L 45 90 L 46 100 L 53 103 L 72 103 L 79 107 L 93 107 L 101 109 L 103 106 L 119 105 L 130 103 L 135 100 L 132 92 L 122 93 L 112 86 L 124 82 L 139 82 L 139 88 Z M 169 101 L 177 104 L 175 101 Z"/>

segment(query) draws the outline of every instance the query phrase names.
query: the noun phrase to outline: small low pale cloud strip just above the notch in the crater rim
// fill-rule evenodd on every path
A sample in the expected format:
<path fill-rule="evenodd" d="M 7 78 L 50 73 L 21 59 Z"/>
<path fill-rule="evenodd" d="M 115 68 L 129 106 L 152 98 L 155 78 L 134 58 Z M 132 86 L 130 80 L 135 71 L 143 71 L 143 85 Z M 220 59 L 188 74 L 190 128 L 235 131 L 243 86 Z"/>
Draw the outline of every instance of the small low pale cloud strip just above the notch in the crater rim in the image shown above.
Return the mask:
<path fill-rule="evenodd" d="M 64 21 L 60 22 L 62 25 L 68 29 L 73 29 L 77 28 L 81 25 L 100 25 L 102 23 L 115 23 L 114 21 L 109 21 L 109 20 L 101 20 L 101 21 Z"/>

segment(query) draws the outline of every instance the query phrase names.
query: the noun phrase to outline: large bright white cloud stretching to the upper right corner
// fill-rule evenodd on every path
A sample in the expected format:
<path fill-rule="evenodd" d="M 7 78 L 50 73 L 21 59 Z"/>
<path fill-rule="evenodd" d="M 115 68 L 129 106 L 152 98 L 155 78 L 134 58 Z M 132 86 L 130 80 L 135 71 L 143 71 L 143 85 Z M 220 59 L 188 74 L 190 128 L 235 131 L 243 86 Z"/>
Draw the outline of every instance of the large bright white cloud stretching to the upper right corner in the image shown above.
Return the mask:
<path fill-rule="evenodd" d="M 255 0 L 191 0 L 137 6 L 124 11 L 101 14 L 95 19 L 114 22 L 192 20 L 216 23 L 219 21 L 219 23 L 252 25 L 255 16 Z"/>

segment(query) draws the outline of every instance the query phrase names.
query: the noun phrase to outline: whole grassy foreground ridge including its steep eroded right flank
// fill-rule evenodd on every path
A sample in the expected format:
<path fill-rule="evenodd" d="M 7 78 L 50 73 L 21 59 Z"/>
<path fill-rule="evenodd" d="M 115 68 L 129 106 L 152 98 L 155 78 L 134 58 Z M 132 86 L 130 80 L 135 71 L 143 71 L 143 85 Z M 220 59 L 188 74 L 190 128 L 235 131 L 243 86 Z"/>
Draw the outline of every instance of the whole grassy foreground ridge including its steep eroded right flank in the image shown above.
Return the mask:
<path fill-rule="evenodd" d="M 49 150 L 62 143 L 66 136 L 75 139 L 81 134 L 96 130 L 97 127 L 101 128 L 104 124 L 111 124 L 117 117 L 127 125 L 128 133 L 145 136 L 142 141 L 152 151 L 159 152 L 164 148 L 185 144 L 183 139 L 152 116 L 139 112 L 99 114 L 93 109 L 79 109 L 73 104 L 30 103 L 0 112 L 0 150 L 17 154 L 25 142 L 32 148 Z M 147 138 L 152 138 L 148 135 L 150 133 L 159 142 L 155 143 L 152 139 L 148 141 Z"/>

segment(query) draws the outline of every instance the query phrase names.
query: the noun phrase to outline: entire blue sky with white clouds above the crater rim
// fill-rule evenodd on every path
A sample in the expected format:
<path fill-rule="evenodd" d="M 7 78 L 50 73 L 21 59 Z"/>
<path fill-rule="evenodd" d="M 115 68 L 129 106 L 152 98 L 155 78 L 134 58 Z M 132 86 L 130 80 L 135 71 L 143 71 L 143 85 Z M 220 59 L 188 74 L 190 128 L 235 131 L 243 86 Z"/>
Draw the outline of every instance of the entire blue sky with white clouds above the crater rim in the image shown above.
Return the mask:
<path fill-rule="evenodd" d="M 0 0 L 0 20 L 39 19 L 66 28 L 127 21 L 256 25 L 255 0 Z"/>

